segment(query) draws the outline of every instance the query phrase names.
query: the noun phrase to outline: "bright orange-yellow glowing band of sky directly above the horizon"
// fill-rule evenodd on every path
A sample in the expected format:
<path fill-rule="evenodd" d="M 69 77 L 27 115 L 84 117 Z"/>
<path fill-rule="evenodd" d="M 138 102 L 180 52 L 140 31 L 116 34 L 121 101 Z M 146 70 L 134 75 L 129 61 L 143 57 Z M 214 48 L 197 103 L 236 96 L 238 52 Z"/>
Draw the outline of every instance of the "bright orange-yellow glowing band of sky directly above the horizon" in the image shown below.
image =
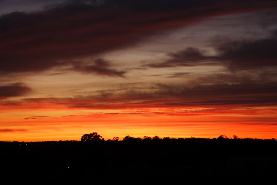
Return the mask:
<path fill-rule="evenodd" d="M 122 140 L 127 135 L 158 135 L 161 138 L 217 138 L 220 135 L 232 138 L 237 135 L 239 138 L 271 139 L 277 134 L 277 116 L 274 111 L 275 109 L 268 108 L 231 111 L 148 108 L 98 110 L 98 113 L 89 113 L 91 111 L 82 109 L 25 109 L 10 115 L 5 114 L 6 116 L 2 114 L 0 140 L 79 141 L 83 134 L 92 132 L 97 132 L 105 140 L 115 136 Z M 42 113 L 44 116 L 41 116 Z M 28 114 L 32 116 L 25 116 Z"/>

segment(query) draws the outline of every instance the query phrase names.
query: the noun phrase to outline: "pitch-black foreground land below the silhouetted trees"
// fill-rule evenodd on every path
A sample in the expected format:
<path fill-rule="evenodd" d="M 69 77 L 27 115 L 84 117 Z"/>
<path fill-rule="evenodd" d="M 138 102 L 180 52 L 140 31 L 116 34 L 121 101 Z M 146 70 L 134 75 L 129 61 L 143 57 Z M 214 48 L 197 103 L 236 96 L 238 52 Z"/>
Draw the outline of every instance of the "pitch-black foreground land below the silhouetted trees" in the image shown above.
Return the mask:
<path fill-rule="evenodd" d="M 2 182 L 133 184 L 277 175 L 274 139 L 0 142 L 0 150 Z"/>

